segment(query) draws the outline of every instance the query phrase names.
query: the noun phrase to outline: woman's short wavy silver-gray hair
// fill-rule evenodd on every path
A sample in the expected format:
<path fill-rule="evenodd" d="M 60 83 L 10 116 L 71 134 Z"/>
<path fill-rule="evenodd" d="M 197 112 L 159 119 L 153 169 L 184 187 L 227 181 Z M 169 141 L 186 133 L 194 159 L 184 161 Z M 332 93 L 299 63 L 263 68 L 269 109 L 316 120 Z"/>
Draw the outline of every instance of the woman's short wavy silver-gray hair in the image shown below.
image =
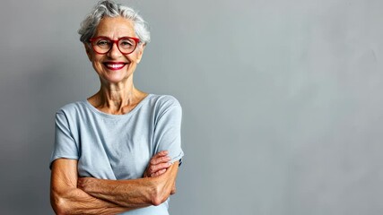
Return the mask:
<path fill-rule="evenodd" d="M 151 33 L 149 32 L 149 26 L 144 19 L 130 7 L 117 4 L 112 0 L 102 0 L 96 4 L 91 13 L 89 13 L 78 30 L 81 35 L 80 41 L 83 43 L 89 43 L 91 37 L 93 37 L 97 26 L 101 19 L 105 16 L 117 17 L 121 16 L 134 23 L 135 35 L 140 39 L 140 43 L 147 44 L 151 40 Z"/>

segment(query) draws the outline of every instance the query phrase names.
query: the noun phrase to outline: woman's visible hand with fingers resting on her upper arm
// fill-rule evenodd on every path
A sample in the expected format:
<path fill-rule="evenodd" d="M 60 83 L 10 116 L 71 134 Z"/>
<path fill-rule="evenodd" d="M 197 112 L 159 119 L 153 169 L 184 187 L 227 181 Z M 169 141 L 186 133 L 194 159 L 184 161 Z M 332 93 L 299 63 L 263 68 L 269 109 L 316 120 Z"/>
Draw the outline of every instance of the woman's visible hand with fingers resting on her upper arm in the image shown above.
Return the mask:
<path fill-rule="evenodd" d="M 161 176 L 170 167 L 170 157 L 167 150 L 161 150 L 150 159 L 144 177 Z"/>

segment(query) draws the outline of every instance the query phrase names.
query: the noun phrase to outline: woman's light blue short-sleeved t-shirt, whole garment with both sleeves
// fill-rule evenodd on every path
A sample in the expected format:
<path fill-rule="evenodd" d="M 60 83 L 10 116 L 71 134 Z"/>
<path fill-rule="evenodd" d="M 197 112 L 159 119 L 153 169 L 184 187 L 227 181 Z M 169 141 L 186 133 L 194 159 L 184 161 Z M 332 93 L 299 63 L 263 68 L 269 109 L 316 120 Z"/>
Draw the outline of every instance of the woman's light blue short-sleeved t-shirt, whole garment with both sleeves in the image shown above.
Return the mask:
<path fill-rule="evenodd" d="M 178 100 L 149 94 L 126 115 L 110 115 L 87 100 L 62 107 L 56 114 L 55 159 L 77 159 L 79 176 L 135 179 L 144 175 L 149 160 L 168 150 L 171 162 L 181 159 L 181 117 Z M 169 199 L 159 206 L 126 215 L 168 215 Z"/>

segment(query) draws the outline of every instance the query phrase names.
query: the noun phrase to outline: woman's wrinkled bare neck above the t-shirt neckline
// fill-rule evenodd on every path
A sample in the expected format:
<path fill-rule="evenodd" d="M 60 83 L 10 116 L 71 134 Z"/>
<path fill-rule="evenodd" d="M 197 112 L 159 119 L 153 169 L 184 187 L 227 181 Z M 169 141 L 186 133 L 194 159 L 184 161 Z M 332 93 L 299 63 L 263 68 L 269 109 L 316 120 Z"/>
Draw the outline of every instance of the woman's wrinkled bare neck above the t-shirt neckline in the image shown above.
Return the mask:
<path fill-rule="evenodd" d="M 133 82 L 101 82 L 100 90 L 88 100 L 102 112 L 123 115 L 131 111 L 146 95 L 135 89 Z"/>

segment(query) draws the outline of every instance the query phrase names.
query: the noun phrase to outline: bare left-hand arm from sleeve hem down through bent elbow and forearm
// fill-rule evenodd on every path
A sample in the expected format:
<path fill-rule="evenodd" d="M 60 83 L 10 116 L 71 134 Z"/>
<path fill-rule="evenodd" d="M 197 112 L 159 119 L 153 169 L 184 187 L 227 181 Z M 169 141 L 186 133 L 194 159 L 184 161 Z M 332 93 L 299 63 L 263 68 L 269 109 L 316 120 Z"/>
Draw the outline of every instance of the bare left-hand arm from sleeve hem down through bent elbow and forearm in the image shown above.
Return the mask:
<path fill-rule="evenodd" d="M 50 202 L 57 214 L 116 214 L 132 210 L 83 192 L 77 188 L 77 178 L 77 160 L 57 159 L 53 162 Z"/>

